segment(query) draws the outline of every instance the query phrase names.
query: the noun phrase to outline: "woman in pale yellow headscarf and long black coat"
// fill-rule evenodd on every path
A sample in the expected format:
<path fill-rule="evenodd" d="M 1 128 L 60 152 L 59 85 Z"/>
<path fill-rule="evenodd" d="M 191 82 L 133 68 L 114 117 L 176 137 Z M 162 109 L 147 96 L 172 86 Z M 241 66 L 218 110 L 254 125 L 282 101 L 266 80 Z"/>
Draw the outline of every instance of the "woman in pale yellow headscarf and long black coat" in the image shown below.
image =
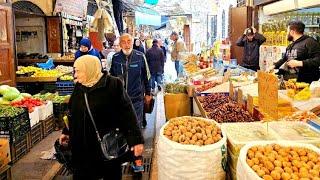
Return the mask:
<path fill-rule="evenodd" d="M 132 103 L 120 79 L 103 74 L 97 57 L 84 55 L 74 63 L 75 88 L 69 102 L 68 129 L 63 130 L 60 144 L 69 139 L 72 152 L 73 179 L 121 180 L 120 159 L 106 161 L 88 114 L 84 93 L 101 136 L 119 128 L 135 156 L 143 152 L 144 139 L 137 126 Z"/>

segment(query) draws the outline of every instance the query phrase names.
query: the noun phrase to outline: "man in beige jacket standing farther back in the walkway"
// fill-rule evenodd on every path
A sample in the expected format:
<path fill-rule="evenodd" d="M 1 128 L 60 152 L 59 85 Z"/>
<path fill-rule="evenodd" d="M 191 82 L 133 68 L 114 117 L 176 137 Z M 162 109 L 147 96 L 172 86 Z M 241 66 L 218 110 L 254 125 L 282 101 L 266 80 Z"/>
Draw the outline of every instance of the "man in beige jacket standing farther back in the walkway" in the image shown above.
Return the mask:
<path fill-rule="evenodd" d="M 172 46 L 171 60 L 174 61 L 177 75 L 179 75 L 179 73 L 182 72 L 182 69 L 180 66 L 180 60 L 182 60 L 181 53 L 186 51 L 186 46 L 183 40 L 179 38 L 179 35 L 177 32 L 172 32 L 170 35 L 170 39 L 174 42 Z"/>

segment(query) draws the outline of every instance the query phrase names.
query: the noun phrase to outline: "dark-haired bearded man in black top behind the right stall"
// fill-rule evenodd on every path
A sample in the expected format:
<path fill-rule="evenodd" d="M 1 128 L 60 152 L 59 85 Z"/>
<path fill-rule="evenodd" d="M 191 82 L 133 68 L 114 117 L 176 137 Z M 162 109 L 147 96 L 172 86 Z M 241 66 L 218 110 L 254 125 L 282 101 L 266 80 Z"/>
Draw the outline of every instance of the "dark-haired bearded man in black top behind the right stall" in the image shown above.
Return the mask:
<path fill-rule="evenodd" d="M 311 83 L 320 78 L 320 44 L 304 35 L 305 25 L 301 21 L 292 21 L 288 26 L 288 41 L 285 56 L 275 63 L 279 69 L 284 63 L 298 72 L 297 81 Z"/>

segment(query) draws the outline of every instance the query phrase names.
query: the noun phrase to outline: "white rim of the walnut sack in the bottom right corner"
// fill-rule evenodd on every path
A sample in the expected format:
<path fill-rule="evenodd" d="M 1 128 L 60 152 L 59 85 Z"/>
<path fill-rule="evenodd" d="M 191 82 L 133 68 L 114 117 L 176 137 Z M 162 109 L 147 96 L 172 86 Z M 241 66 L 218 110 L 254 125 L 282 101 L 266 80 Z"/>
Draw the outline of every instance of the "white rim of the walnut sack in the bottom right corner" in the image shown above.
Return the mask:
<path fill-rule="evenodd" d="M 295 143 L 292 141 L 256 141 L 256 142 L 248 143 L 240 151 L 240 155 L 237 163 L 237 179 L 241 179 L 241 180 L 262 179 L 247 164 L 246 162 L 247 152 L 253 146 L 266 146 L 269 144 L 279 144 L 280 146 L 283 146 L 283 147 L 303 147 L 320 154 L 320 149 L 315 147 L 314 145 L 304 144 L 304 143 Z"/>

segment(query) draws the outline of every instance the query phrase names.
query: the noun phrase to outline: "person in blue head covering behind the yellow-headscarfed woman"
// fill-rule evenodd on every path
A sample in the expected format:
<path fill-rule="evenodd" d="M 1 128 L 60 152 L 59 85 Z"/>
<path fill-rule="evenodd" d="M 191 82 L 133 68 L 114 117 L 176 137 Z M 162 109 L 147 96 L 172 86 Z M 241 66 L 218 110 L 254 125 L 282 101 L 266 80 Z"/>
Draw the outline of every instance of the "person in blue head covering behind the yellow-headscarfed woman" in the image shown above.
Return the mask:
<path fill-rule="evenodd" d="M 75 60 L 77 60 L 79 57 L 83 56 L 83 55 L 93 55 L 96 56 L 97 58 L 100 58 L 100 53 L 98 50 L 96 50 L 95 48 L 93 48 L 93 46 L 91 45 L 91 41 L 90 39 L 87 38 L 83 38 L 80 41 L 80 49 L 75 53 Z"/>

